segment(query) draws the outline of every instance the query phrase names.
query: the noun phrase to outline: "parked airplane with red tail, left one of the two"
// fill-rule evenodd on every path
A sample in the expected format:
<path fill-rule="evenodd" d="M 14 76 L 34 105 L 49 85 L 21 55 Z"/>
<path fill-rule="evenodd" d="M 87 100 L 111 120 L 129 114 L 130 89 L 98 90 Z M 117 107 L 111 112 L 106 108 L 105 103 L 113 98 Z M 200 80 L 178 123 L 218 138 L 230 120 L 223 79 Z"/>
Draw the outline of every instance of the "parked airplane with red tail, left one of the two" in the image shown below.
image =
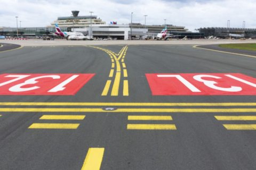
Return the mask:
<path fill-rule="evenodd" d="M 57 23 L 55 23 L 55 29 L 55 35 L 67 38 L 67 40 L 93 40 L 93 37 L 84 36 L 81 32 L 62 32 Z"/>

